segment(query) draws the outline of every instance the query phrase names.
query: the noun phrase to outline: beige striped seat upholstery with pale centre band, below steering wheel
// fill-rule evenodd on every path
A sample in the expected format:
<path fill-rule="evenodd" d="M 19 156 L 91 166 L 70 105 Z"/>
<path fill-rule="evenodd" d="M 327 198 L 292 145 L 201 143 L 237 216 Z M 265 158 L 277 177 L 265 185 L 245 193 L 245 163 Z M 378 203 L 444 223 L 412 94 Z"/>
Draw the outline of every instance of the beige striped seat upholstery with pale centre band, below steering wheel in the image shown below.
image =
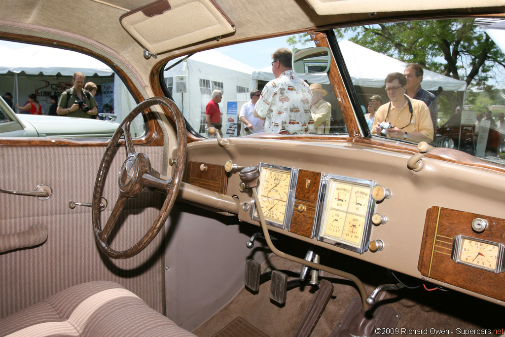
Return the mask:
<path fill-rule="evenodd" d="M 195 335 L 149 308 L 121 285 L 93 281 L 0 319 L 0 337 L 4 336 Z"/>

